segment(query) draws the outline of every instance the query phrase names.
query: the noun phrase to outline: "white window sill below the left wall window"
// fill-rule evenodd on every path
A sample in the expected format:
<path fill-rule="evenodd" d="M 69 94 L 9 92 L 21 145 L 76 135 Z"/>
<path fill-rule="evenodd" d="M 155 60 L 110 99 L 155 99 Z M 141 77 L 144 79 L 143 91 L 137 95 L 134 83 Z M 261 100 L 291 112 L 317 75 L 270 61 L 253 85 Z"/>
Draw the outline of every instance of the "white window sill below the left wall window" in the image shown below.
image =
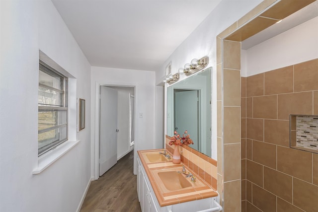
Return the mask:
<path fill-rule="evenodd" d="M 32 171 L 32 174 L 40 174 L 47 167 L 57 161 L 65 153 L 70 151 L 74 146 L 79 143 L 78 141 L 66 141 L 57 148 L 45 153 L 38 158 L 38 167 Z"/>

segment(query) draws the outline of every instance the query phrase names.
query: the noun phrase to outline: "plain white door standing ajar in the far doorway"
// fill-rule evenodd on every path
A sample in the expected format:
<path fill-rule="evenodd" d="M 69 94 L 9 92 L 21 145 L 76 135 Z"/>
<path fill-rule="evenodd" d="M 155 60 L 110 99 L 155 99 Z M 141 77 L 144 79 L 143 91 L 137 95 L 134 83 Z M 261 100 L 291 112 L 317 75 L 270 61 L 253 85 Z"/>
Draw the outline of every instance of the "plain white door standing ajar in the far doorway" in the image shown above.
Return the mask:
<path fill-rule="evenodd" d="M 99 176 L 117 163 L 117 91 L 100 86 Z"/>

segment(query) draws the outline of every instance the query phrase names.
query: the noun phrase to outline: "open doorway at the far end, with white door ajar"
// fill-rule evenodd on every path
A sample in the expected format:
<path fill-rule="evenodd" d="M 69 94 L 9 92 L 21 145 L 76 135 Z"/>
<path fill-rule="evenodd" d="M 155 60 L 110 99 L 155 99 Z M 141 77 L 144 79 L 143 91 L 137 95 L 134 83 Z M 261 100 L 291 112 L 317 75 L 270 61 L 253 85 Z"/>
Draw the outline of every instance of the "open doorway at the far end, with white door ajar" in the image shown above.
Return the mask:
<path fill-rule="evenodd" d="M 98 176 L 134 148 L 134 95 L 132 86 L 99 85 Z"/>

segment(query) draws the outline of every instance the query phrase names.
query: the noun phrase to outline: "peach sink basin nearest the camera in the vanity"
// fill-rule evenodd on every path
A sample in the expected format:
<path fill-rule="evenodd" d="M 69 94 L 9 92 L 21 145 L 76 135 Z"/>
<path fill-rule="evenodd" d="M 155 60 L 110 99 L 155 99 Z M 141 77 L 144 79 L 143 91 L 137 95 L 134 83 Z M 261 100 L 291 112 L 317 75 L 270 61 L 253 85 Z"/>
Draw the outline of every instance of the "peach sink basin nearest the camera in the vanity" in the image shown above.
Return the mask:
<path fill-rule="evenodd" d="M 176 191 L 188 187 L 192 187 L 191 183 L 177 171 L 162 171 L 158 172 L 159 178 L 165 188 L 170 191 Z"/>

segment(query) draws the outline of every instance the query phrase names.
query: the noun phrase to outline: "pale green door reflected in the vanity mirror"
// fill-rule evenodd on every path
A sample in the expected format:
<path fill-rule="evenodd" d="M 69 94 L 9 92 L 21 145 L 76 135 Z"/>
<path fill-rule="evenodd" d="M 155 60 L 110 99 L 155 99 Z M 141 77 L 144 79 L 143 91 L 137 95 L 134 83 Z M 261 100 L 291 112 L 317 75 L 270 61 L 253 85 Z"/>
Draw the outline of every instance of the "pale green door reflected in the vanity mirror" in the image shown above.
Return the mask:
<path fill-rule="evenodd" d="M 174 89 L 174 129 L 182 136 L 188 131 L 191 147 L 200 150 L 200 91 Z"/>

